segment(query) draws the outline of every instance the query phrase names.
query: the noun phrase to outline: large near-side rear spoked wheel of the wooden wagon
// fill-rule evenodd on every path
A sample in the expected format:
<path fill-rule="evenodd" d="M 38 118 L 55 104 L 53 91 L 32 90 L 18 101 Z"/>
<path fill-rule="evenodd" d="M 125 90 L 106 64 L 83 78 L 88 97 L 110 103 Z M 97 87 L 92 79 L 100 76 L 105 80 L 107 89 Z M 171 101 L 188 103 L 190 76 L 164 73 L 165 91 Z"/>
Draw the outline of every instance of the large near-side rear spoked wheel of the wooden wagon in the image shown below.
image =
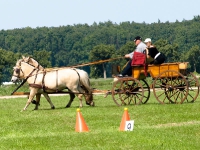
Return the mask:
<path fill-rule="evenodd" d="M 153 82 L 153 93 L 161 104 L 182 104 L 188 91 L 188 81 L 175 70 L 160 73 Z"/>

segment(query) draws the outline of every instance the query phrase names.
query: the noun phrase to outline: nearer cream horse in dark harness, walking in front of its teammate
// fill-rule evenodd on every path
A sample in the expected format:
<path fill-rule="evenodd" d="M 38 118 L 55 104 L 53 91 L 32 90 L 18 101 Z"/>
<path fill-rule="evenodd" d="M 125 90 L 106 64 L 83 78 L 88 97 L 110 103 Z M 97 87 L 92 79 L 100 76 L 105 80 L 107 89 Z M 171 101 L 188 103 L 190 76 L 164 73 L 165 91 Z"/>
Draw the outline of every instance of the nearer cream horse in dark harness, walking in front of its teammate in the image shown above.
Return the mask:
<path fill-rule="evenodd" d="M 23 110 L 27 109 L 32 99 L 35 95 L 37 96 L 37 94 L 44 94 L 46 99 L 49 101 L 51 108 L 54 108 L 54 105 L 52 104 L 47 93 L 62 91 L 66 88 L 70 92 L 70 95 L 74 95 L 74 93 L 87 95 L 87 102 L 92 106 L 94 105 L 91 88 L 89 85 L 85 85 L 88 81 L 81 83 L 79 74 L 73 69 L 66 68 L 46 72 L 41 71 L 38 68 L 24 62 L 23 59 L 20 59 L 14 67 L 11 81 L 16 82 L 18 78 L 26 78 L 30 85 L 30 95 Z M 88 80 L 88 78 L 85 80 Z M 70 107 L 74 97 L 75 96 L 70 96 L 70 101 L 67 104 L 67 107 Z M 39 103 L 36 103 L 35 109 L 38 109 L 38 105 Z"/>

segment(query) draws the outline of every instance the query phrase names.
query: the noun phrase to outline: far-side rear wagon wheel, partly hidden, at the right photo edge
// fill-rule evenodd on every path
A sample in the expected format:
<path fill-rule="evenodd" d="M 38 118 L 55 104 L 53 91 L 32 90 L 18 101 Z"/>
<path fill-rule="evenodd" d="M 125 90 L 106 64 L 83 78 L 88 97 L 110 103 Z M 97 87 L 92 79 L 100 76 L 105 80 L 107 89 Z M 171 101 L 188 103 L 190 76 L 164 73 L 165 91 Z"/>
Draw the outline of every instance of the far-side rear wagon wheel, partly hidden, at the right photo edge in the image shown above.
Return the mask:
<path fill-rule="evenodd" d="M 191 72 L 187 73 L 186 80 L 188 81 L 189 86 L 189 92 L 186 101 L 194 102 L 197 99 L 197 96 L 199 95 L 199 80 Z"/>

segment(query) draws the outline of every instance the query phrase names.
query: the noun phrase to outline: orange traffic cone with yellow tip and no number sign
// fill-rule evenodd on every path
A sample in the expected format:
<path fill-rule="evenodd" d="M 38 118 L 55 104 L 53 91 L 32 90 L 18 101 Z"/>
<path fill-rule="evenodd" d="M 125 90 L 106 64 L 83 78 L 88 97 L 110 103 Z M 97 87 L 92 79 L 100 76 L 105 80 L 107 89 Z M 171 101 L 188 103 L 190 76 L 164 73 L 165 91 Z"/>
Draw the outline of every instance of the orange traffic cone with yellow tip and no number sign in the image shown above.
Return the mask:
<path fill-rule="evenodd" d="M 79 108 L 77 109 L 77 114 L 76 114 L 75 131 L 76 132 L 88 132 L 89 131 Z"/>

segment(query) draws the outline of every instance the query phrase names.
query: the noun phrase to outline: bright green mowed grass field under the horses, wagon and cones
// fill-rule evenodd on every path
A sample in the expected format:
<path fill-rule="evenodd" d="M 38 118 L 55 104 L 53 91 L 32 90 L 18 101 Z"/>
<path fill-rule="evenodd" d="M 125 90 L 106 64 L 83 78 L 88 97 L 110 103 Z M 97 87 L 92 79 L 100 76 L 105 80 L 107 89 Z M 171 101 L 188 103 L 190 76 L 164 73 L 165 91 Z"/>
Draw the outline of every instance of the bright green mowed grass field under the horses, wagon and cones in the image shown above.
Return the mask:
<path fill-rule="evenodd" d="M 75 132 L 78 98 L 70 108 L 65 108 L 69 96 L 51 99 L 54 110 L 42 97 L 39 110 L 32 111 L 31 104 L 24 112 L 20 111 L 26 98 L 1 99 L 0 149 L 200 149 L 199 97 L 194 103 L 161 105 L 151 93 L 147 104 L 118 107 L 111 96 L 94 95 L 96 106 L 86 106 L 84 102 L 81 108 L 90 130 L 84 133 Z M 125 107 L 135 122 L 133 131 L 119 131 Z"/>

